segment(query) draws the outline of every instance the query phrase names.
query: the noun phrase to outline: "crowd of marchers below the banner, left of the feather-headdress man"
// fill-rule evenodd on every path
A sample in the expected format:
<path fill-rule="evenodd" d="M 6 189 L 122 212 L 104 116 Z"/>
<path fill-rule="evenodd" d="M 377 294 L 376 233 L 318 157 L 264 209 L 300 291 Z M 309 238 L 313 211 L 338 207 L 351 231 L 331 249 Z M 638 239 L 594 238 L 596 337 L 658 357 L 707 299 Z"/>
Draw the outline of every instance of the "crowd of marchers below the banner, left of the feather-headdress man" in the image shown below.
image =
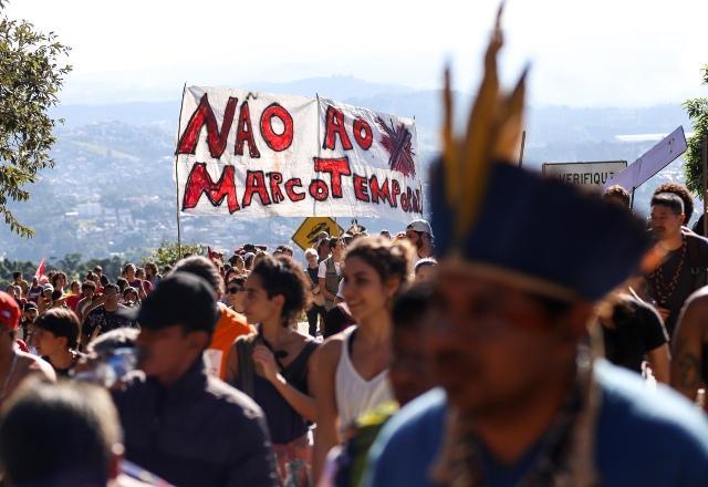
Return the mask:
<path fill-rule="evenodd" d="M 420 225 L 427 231 L 413 230 Z M 313 485 L 357 419 L 433 386 L 413 373 L 420 362 L 400 362 L 400 394 L 388 376 L 392 303 L 413 281 L 427 286 L 434 274 L 419 269 L 437 265 L 429 225 L 414 221 L 408 231 L 417 239 L 368 236 L 358 225 L 336 237 L 323 232 L 304 266 L 288 246 L 271 253 L 247 244 L 228 259 L 186 256 L 163 273 L 149 262 L 126 263 L 112 278 L 97 267 L 70 284 L 60 270 L 32 283 L 15 273 L 1 294 L 8 340 L 0 404 L 11 410 L 44 394 L 61 402 L 91 382 L 112 395 L 98 419 L 118 419 L 110 425 L 122 432 L 113 441 L 133 468 L 174 485 Z M 427 256 L 418 266 L 416 251 Z M 399 348 L 423 354 L 417 339 Z M 67 464 L 38 468 L 33 478 L 83 485 L 84 476 L 125 481 L 132 472 L 101 473 L 75 455 L 59 456 Z M 22 485 L 11 462 L 2 465 L 6 481 Z"/>

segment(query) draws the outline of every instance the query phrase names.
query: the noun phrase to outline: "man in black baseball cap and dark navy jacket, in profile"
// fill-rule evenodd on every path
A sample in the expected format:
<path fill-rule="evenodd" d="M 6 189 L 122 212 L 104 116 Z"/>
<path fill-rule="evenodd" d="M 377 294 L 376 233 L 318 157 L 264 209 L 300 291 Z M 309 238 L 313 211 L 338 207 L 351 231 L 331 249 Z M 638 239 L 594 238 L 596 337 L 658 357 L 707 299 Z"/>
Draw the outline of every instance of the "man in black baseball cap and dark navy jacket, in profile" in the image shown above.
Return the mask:
<path fill-rule="evenodd" d="M 179 486 L 277 485 L 260 407 L 205 371 L 218 319 L 209 284 L 173 272 L 132 311 L 145 377 L 114 393 L 127 459 Z"/>

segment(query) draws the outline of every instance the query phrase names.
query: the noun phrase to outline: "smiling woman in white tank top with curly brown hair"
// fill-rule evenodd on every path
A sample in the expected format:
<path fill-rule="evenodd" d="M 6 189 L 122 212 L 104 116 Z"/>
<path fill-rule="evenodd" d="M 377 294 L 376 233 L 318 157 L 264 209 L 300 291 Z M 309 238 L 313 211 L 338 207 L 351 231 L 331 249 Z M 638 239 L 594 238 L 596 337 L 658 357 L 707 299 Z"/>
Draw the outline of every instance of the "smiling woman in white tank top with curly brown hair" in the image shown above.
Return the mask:
<path fill-rule="evenodd" d="M 317 427 L 313 450 L 315 485 L 329 450 L 363 414 L 388 401 L 391 305 L 408 281 L 412 247 L 381 237 L 357 239 L 344 259 L 344 299 L 358 325 L 331 336 L 315 352 Z"/>

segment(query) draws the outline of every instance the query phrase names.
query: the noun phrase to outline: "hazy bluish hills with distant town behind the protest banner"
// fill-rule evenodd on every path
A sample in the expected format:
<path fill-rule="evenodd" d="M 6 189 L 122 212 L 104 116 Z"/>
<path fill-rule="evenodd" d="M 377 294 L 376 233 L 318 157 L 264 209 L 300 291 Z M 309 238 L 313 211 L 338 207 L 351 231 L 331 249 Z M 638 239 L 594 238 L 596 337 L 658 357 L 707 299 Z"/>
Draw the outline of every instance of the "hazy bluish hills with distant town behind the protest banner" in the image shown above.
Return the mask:
<path fill-rule="evenodd" d="M 436 91 L 414 91 L 345 76 L 240 87 L 310 96 L 317 92 L 345 103 L 415 116 L 421 163 L 427 164 L 438 151 L 441 114 Z M 460 127 L 469 103 L 468 95 L 458 93 Z M 139 258 L 160 240 L 175 240 L 173 152 L 179 101 L 63 105 L 53 113 L 65 118 L 65 124 L 56 129 L 58 143 L 52 152 L 56 167 L 44 172 L 29 187 L 32 193 L 29 203 L 13 206 L 18 216 L 37 230 L 37 237 L 22 240 L 0 226 L 0 257 L 37 260 L 77 251 L 84 257 L 117 253 Z M 669 133 L 678 125 L 690 132 L 689 121 L 678 105 L 531 107 L 525 165 L 616 159 L 631 163 L 655 142 L 643 137 L 623 142 L 617 136 Z M 636 207 L 645 209 L 652 187 L 659 182 L 683 180 L 680 165 L 678 160 L 641 188 Z M 244 241 L 275 245 L 287 241 L 299 222 L 292 218 L 249 221 L 185 217 L 183 236 L 185 241 L 209 242 L 226 249 Z M 360 222 L 373 231 L 400 228 L 400 224 L 393 221 Z"/>

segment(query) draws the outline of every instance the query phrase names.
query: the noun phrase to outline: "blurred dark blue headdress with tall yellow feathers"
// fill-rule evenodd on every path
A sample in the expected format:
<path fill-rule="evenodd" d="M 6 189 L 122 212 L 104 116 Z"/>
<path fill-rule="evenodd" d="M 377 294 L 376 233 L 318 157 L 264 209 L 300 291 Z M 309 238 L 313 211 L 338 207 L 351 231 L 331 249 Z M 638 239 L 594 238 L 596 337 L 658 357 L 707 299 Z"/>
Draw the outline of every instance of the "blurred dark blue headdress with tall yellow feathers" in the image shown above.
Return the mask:
<path fill-rule="evenodd" d="M 436 255 L 535 293 L 595 301 L 638 269 L 646 229 L 596 195 L 517 167 L 528 70 L 510 93 L 501 92 L 501 13 L 459 136 L 445 75 L 442 155 L 430 177 Z"/>

